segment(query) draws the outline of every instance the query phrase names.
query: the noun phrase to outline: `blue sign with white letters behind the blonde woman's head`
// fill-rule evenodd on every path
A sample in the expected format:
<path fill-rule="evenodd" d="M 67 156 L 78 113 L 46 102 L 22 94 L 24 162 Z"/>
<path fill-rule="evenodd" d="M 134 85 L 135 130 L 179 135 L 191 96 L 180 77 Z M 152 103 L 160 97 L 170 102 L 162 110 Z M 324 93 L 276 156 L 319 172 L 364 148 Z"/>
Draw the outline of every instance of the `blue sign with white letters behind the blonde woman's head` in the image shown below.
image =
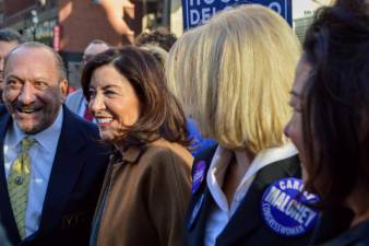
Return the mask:
<path fill-rule="evenodd" d="M 293 24 L 291 0 L 182 0 L 184 31 L 206 22 L 217 11 L 250 3 L 269 7 Z"/>

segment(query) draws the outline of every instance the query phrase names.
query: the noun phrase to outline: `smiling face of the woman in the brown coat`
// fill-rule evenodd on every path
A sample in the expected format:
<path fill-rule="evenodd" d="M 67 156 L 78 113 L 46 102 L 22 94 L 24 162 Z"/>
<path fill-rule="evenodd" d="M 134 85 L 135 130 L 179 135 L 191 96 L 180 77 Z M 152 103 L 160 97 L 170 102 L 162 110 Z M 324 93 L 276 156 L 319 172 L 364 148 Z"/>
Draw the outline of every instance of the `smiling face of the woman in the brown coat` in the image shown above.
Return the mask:
<path fill-rule="evenodd" d="M 100 138 L 114 141 L 140 117 L 140 102 L 132 84 L 112 65 L 97 68 L 91 78 L 88 107 Z"/>

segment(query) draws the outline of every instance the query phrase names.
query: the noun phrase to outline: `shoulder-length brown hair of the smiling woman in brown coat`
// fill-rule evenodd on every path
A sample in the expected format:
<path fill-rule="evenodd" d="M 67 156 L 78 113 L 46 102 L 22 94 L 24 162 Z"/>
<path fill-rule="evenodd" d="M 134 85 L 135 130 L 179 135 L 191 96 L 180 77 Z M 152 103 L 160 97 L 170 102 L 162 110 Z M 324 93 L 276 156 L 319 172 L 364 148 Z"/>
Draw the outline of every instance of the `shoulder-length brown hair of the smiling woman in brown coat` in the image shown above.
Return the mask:
<path fill-rule="evenodd" d="M 112 65 L 132 84 L 141 103 L 139 120 L 121 132 L 124 144 L 144 144 L 160 137 L 171 142 L 189 145 L 183 110 L 166 85 L 164 70 L 148 51 L 133 46 L 108 49 L 94 56 L 82 72 L 82 90 L 90 101 L 93 72 Z"/>

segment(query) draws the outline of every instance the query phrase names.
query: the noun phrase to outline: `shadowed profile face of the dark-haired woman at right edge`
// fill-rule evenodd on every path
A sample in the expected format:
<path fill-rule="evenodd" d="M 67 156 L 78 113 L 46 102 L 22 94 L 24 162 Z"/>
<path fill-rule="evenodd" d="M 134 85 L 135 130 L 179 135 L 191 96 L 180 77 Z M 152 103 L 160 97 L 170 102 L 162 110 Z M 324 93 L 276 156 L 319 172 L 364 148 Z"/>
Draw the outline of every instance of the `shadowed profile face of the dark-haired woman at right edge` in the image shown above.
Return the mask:
<path fill-rule="evenodd" d="M 302 93 L 310 71 L 311 66 L 302 57 L 298 62 L 295 82 L 290 92 L 291 97 L 289 105 L 294 109 L 294 114 L 285 127 L 285 134 L 290 138 L 299 151 L 299 156 L 302 163 L 302 177 L 305 180 L 307 178 L 307 174 L 306 168 L 303 168 L 303 164 L 307 162 L 302 136 Z"/>

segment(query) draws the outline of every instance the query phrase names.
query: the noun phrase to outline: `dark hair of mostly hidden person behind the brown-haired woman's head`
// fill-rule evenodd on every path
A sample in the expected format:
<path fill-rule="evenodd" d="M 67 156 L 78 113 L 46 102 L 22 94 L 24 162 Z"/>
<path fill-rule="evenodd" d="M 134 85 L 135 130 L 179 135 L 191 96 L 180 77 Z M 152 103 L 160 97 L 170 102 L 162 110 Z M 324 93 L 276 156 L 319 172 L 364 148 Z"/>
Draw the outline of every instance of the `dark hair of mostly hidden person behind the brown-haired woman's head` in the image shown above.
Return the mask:
<path fill-rule="evenodd" d="M 169 51 L 176 40 L 177 37 L 174 34 L 169 33 L 168 30 L 166 30 L 165 27 L 159 27 L 148 33 L 141 33 L 135 39 L 135 45 L 157 45 L 166 51 Z"/>

